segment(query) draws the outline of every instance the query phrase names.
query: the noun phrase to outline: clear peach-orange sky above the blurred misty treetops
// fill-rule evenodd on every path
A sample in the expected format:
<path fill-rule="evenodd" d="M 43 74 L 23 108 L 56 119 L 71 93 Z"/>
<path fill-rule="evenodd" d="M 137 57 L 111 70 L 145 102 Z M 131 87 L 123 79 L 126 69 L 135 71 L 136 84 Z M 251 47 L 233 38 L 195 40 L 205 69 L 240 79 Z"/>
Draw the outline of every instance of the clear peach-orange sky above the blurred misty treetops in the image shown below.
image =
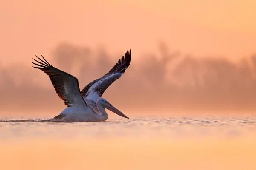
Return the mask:
<path fill-rule="evenodd" d="M 163 40 L 184 54 L 243 57 L 256 51 L 255 8 L 255 0 L 4 1 L 0 62 L 29 63 L 61 42 L 141 54 Z"/>

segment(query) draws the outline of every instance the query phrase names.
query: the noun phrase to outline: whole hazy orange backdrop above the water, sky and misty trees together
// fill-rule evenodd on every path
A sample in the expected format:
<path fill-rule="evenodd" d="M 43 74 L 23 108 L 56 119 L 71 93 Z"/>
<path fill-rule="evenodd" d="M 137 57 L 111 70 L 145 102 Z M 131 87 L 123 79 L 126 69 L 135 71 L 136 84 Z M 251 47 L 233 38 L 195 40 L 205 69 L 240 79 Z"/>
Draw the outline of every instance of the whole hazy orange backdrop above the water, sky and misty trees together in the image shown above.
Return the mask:
<path fill-rule="evenodd" d="M 255 8 L 255 0 L 5 1 L 2 113 L 65 108 L 49 77 L 31 67 L 35 54 L 82 89 L 130 48 L 130 68 L 103 96 L 120 110 L 256 111 Z"/>

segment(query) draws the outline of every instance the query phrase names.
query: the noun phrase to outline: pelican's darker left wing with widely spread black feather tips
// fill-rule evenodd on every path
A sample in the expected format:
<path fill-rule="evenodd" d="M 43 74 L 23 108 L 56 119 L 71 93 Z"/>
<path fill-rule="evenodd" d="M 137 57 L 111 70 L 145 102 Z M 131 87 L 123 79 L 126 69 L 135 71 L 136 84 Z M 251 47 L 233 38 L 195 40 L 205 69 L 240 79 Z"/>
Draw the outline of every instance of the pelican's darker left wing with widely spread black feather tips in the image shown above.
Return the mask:
<path fill-rule="evenodd" d="M 41 57 L 43 56 L 41 55 Z M 44 60 L 40 59 L 39 57 L 37 58 L 41 62 L 34 59 L 38 63 L 32 63 L 39 66 L 34 68 L 44 71 L 44 73 L 50 77 L 56 93 L 64 101 L 65 105 L 68 107 L 73 105 L 83 105 L 84 103 L 87 105 L 81 95 L 78 79 L 76 77 L 53 67 L 49 64 L 49 62 L 46 61 L 46 59 L 44 59 L 44 57 Z"/>

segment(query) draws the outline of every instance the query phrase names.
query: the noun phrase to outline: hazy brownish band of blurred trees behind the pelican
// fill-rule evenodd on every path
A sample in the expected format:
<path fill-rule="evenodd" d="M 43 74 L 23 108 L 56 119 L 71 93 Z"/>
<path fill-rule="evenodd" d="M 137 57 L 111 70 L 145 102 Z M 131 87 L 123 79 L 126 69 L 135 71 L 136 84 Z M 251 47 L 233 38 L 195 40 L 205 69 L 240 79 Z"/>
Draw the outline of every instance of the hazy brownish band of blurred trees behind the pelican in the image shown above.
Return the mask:
<path fill-rule="evenodd" d="M 158 49 L 158 54 L 145 51 L 141 56 L 131 49 L 130 67 L 103 97 L 121 111 L 140 113 L 256 111 L 256 55 L 231 62 L 224 57 L 181 54 L 164 42 Z M 77 77 L 82 90 L 107 73 L 125 52 L 111 57 L 104 46 L 92 49 L 61 43 L 51 56 L 42 55 L 56 68 Z M 32 68 L 32 63 L 31 67 L 18 62 L 5 68 L 0 65 L 0 94 L 0 114 L 58 114 L 66 107 L 49 77 Z"/>

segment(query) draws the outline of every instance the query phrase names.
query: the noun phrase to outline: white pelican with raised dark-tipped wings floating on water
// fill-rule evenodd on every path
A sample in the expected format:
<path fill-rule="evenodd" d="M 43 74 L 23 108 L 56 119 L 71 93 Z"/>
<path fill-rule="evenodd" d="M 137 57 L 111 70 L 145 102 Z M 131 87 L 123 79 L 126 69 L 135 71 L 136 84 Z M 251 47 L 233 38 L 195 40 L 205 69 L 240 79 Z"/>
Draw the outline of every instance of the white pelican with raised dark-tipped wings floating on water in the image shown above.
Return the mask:
<path fill-rule="evenodd" d="M 53 119 L 79 122 L 105 121 L 108 119 L 108 113 L 105 111 L 105 108 L 119 116 L 129 119 L 106 99 L 102 98 L 102 94 L 114 81 L 119 79 L 129 67 L 131 62 L 131 49 L 130 53 L 127 50 L 125 56 L 122 56 L 107 74 L 90 82 L 81 92 L 76 77 L 53 67 L 42 55 L 41 57 L 43 59 L 38 56 L 36 57 L 40 61 L 34 59 L 37 63 L 32 62 L 36 65 L 36 67 L 32 67 L 44 71 L 44 73 L 49 76 L 56 93 L 64 101 L 64 104 L 67 105 L 67 108 Z"/>

